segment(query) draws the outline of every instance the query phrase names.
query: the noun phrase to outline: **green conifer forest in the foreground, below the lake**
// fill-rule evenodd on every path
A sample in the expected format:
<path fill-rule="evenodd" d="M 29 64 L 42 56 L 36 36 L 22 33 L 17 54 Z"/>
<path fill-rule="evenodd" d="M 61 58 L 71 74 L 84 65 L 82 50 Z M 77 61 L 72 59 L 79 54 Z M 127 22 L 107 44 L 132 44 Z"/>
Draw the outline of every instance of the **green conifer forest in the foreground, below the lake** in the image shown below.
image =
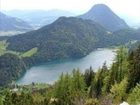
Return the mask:
<path fill-rule="evenodd" d="M 0 89 L 1 105 L 118 105 L 140 103 L 140 46 L 131 52 L 117 50 L 110 68 L 106 63 L 97 72 L 74 69 L 53 85 L 34 84 Z"/>

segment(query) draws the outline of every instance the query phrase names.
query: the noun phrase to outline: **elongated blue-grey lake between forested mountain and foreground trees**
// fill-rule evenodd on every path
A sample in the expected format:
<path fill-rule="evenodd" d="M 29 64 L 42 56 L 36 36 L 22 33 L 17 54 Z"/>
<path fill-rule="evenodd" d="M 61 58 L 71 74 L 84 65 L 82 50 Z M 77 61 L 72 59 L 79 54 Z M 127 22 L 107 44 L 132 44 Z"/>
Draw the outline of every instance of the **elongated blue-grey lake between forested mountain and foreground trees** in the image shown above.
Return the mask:
<path fill-rule="evenodd" d="M 22 85 L 32 82 L 52 84 L 59 78 L 62 72 L 70 73 L 74 68 L 79 68 L 81 72 L 84 72 L 85 69 L 92 66 L 94 71 L 97 71 L 104 62 L 110 67 L 115 54 L 115 49 L 98 49 L 81 59 L 55 61 L 33 66 L 16 83 Z"/>

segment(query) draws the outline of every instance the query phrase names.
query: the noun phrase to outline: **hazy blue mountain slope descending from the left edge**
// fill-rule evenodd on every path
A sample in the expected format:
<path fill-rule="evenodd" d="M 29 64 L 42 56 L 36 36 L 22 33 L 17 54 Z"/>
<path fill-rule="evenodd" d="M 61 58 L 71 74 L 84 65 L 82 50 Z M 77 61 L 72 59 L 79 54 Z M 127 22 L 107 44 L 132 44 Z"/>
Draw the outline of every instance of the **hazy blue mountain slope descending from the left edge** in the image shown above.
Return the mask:
<path fill-rule="evenodd" d="M 27 22 L 0 12 L 0 31 L 30 31 L 31 29 Z"/>

